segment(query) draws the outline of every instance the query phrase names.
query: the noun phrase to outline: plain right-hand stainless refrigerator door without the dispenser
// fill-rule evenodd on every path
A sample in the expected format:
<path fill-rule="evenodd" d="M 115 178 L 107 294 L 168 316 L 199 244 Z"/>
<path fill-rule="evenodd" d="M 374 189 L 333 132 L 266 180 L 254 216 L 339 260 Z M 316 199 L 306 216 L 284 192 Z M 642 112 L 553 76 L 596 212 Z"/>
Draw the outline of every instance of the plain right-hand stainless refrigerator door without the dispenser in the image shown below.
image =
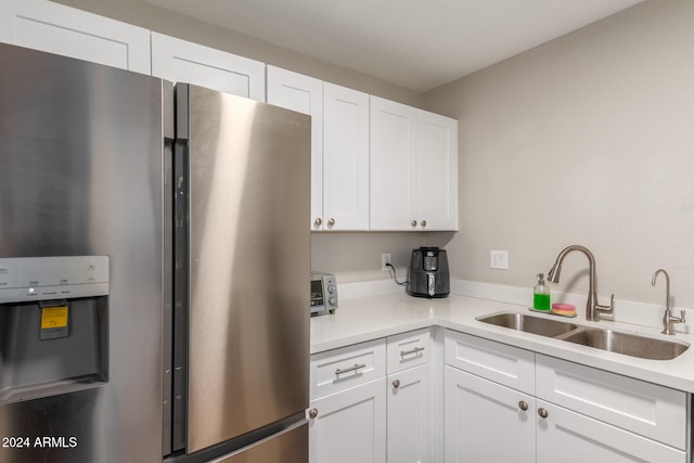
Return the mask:
<path fill-rule="evenodd" d="M 309 116 L 188 91 L 192 453 L 308 407 L 311 169 Z"/>

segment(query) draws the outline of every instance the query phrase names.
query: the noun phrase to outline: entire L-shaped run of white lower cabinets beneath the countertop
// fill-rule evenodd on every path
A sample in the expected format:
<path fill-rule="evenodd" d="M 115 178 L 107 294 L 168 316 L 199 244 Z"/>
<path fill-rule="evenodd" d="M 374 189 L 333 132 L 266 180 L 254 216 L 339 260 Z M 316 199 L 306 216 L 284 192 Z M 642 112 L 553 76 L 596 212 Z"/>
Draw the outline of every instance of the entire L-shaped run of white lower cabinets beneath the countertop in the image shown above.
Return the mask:
<path fill-rule="evenodd" d="M 434 333 L 311 356 L 310 463 L 691 463 L 686 393 Z"/>

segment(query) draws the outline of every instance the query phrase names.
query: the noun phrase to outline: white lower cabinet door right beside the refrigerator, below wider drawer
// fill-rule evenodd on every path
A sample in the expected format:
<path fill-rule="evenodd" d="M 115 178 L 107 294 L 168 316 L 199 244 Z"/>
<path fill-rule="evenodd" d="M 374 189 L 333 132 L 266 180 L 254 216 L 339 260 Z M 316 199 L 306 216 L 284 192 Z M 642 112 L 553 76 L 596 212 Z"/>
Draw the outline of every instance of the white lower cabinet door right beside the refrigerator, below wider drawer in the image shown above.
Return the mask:
<path fill-rule="evenodd" d="M 309 463 L 386 461 L 385 378 L 311 401 Z"/>

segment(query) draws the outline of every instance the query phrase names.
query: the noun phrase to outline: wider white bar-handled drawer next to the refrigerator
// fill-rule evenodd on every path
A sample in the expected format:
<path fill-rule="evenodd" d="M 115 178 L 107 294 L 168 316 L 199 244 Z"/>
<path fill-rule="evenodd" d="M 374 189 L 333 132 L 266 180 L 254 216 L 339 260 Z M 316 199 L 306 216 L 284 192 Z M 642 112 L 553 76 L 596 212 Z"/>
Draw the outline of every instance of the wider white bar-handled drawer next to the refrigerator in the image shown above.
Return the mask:
<path fill-rule="evenodd" d="M 386 374 L 386 340 L 375 339 L 311 356 L 311 399 Z"/>

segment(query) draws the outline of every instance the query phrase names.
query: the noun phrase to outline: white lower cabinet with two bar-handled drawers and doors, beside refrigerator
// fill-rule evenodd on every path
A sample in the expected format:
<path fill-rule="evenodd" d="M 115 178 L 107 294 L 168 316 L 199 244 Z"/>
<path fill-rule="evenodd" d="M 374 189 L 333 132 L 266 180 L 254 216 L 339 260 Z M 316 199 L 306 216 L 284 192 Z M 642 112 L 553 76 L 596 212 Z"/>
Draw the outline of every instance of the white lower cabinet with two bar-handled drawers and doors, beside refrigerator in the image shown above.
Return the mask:
<path fill-rule="evenodd" d="M 311 356 L 310 463 L 433 463 L 428 333 Z"/>

